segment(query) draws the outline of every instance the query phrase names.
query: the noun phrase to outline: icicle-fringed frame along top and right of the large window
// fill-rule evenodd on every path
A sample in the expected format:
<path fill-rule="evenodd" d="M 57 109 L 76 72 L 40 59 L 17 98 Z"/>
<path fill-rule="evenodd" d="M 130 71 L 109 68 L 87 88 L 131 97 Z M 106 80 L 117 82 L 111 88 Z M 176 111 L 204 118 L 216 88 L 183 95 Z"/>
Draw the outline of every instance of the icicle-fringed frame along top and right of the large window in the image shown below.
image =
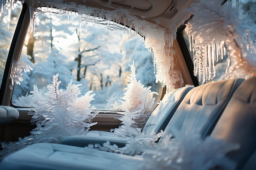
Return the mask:
<path fill-rule="evenodd" d="M 13 4 L 17 0 L 7 1 Z M 155 66 L 156 82 L 160 82 L 163 86 L 166 86 L 167 91 L 171 91 L 173 88 L 183 85 L 183 79 L 180 71 L 174 69 L 175 64 L 166 62 L 166 58 L 171 59 L 171 62 L 173 61 L 173 56 L 175 54 L 170 53 L 170 51 L 174 51 L 171 49 L 173 46 L 173 41 L 176 39 L 177 28 L 179 28 L 179 26 L 184 24 L 184 22 L 190 18 L 191 13 L 181 15 L 177 19 L 177 22 L 171 24 L 168 29 L 164 29 L 157 24 L 147 22 L 146 20 L 139 20 L 137 16 L 133 15 L 133 13 L 130 13 L 126 9 L 106 11 L 103 9 L 77 5 L 76 3 L 67 4 L 63 3 L 62 0 L 43 0 L 40 2 L 38 0 L 29 0 L 29 4 L 31 29 L 34 29 L 36 15 L 38 13 L 43 13 L 43 11 L 40 10 L 41 7 L 47 7 L 49 12 L 53 12 L 52 7 L 56 7 L 56 13 L 60 15 L 69 15 L 69 13 L 76 11 L 79 17 L 79 27 L 81 28 L 81 23 L 83 23 L 85 26 L 85 31 L 88 28 L 89 22 L 105 24 L 107 29 L 121 29 L 127 33 L 129 33 L 133 26 L 136 32 L 139 32 L 142 36 L 144 36 L 145 47 L 154 53 L 153 61 Z M 124 18 L 116 16 L 124 16 Z M 119 24 L 121 19 L 123 19 L 124 25 L 127 25 L 129 28 Z M 164 49 L 165 45 L 171 46 L 171 48 Z"/>

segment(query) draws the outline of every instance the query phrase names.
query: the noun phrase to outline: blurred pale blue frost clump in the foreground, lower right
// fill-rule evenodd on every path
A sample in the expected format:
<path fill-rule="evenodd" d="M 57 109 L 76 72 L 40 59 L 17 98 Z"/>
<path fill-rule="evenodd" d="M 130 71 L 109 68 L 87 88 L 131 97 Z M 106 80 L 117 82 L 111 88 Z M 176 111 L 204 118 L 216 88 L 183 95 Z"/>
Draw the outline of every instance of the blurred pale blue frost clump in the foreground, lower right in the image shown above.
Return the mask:
<path fill-rule="evenodd" d="M 231 150 L 239 148 L 236 144 L 226 144 L 222 140 L 199 134 L 164 135 L 155 148 L 144 150 L 147 170 L 209 170 L 219 167 L 234 170 L 236 164 L 226 157 Z M 196 156 L 195 156 L 196 155 Z"/>

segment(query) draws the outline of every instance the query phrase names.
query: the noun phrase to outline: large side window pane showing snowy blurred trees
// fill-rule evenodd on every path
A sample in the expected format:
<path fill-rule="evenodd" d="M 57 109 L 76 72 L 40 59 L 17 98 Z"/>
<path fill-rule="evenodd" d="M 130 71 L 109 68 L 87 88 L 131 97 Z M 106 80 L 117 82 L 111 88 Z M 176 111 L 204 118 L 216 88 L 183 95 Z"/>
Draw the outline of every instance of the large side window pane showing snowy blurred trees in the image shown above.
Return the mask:
<path fill-rule="evenodd" d="M 34 84 L 44 92 L 58 73 L 59 89 L 65 90 L 72 79 L 73 84 L 81 84 L 81 95 L 88 91 L 96 94 L 92 106 L 109 109 L 124 95 L 133 62 L 137 80 L 159 93 L 162 88 L 155 83 L 152 54 L 144 48 L 143 37 L 132 30 L 107 30 L 101 24 L 83 26 L 75 13 L 37 15 L 34 32 L 28 31 L 20 57 L 33 71 L 24 74 L 21 85 L 14 86 L 14 105 L 27 106 L 17 104 L 16 99 L 29 94 Z"/>

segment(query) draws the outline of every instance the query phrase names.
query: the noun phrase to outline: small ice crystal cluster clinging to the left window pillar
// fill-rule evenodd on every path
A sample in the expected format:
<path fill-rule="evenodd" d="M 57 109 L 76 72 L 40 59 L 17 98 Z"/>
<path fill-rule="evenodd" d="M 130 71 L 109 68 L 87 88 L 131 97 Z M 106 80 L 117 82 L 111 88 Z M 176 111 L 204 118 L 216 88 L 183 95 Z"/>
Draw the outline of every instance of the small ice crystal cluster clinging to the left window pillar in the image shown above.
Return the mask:
<path fill-rule="evenodd" d="M 13 85 L 14 83 L 20 84 L 20 82 L 23 81 L 23 72 L 29 72 L 30 70 L 33 70 L 33 68 L 27 64 L 25 61 L 19 62 L 19 61 L 14 61 L 12 63 L 12 68 L 11 68 L 11 74 L 10 74 L 10 79 L 11 79 L 11 84 Z"/>

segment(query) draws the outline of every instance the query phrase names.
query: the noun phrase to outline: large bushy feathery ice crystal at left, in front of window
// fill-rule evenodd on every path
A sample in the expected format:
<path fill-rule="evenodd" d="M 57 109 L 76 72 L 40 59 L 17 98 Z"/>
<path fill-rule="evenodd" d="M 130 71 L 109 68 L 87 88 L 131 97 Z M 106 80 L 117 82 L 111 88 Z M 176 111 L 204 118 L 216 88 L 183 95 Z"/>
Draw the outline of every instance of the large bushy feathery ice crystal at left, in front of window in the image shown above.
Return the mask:
<path fill-rule="evenodd" d="M 1 143 L 3 150 L 0 155 L 5 156 L 11 152 L 40 142 L 58 143 L 64 137 L 72 135 L 85 135 L 92 123 L 92 119 L 97 112 L 93 113 L 89 109 L 90 101 L 95 94 L 90 95 L 88 91 L 84 96 L 78 97 L 81 84 L 72 84 L 72 80 L 67 85 L 66 91 L 58 89 L 61 81 L 58 81 L 58 74 L 53 76 L 52 84 L 47 85 L 48 92 L 40 93 L 37 86 L 30 95 L 20 97 L 15 102 L 26 102 L 28 106 L 33 106 L 31 111 L 34 115 L 31 124 L 36 124 L 36 128 L 31 131 L 31 135 L 19 138 L 17 142 L 9 144 Z"/>

